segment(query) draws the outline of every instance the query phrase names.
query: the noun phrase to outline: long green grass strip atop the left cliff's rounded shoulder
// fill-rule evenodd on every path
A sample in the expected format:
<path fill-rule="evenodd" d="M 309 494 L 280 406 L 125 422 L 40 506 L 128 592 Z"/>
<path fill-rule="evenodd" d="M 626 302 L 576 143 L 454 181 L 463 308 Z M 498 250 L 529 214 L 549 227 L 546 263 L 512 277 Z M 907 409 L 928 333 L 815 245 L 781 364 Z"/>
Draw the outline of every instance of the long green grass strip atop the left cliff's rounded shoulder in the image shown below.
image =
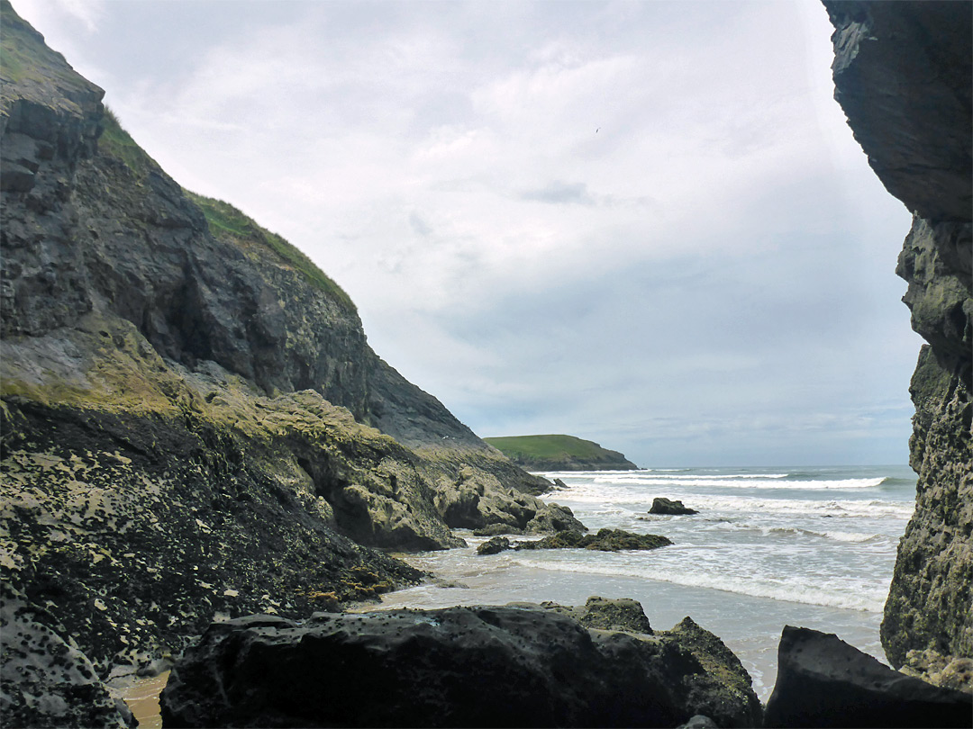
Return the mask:
<path fill-rule="evenodd" d="M 252 218 L 234 208 L 229 202 L 200 195 L 197 192 L 183 189 L 185 195 L 192 200 L 206 217 L 209 231 L 220 240 L 234 244 L 243 242 L 255 243 L 276 254 L 285 263 L 301 271 L 318 290 L 331 295 L 344 309 L 355 313 L 354 302 L 344 293 L 342 288 L 327 276 L 314 261 L 288 243 L 276 233 L 271 233 L 265 227 L 257 225 Z"/>

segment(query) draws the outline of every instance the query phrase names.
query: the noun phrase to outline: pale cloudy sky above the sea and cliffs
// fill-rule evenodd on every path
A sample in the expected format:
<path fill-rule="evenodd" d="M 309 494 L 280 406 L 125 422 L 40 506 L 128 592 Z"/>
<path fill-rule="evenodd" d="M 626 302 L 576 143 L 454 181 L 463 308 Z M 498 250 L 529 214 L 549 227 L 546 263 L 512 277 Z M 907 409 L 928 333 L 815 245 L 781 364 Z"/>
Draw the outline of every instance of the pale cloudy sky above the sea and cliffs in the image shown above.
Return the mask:
<path fill-rule="evenodd" d="M 910 226 L 816 0 L 14 0 L 482 436 L 904 464 Z"/>

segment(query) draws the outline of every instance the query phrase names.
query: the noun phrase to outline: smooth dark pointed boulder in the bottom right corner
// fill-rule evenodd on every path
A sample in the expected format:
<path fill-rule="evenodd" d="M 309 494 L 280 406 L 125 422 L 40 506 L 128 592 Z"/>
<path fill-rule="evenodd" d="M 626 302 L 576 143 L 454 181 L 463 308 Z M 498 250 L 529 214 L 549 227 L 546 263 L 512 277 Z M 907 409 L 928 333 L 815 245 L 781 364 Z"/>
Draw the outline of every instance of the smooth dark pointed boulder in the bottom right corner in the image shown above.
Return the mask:
<path fill-rule="evenodd" d="M 832 634 L 786 626 L 769 727 L 969 727 L 973 696 L 907 677 Z"/>

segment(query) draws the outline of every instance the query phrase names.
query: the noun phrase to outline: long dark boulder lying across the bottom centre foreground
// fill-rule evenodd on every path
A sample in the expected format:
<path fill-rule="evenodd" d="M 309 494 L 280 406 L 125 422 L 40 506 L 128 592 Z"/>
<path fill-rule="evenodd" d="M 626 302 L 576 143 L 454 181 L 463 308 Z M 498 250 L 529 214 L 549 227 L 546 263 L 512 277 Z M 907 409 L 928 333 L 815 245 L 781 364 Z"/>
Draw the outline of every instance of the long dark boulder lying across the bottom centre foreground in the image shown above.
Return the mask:
<path fill-rule="evenodd" d="M 162 693 L 162 720 L 633 727 L 705 714 L 719 726 L 759 723 L 739 663 L 695 639 L 688 647 L 687 631 L 722 645 L 686 621 L 670 635 L 633 635 L 526 605 L 318 613 L 304 623 L 257 615 L 212 625 L 187 651 Z"/>

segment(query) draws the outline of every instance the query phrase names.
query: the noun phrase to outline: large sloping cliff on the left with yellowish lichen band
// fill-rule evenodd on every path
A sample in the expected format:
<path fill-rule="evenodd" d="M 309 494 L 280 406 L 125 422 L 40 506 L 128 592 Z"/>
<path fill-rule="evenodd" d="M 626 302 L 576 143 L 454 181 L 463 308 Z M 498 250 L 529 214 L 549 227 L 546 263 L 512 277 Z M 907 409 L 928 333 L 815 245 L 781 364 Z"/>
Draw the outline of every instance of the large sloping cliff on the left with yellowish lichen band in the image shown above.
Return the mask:
<path fill-rule="evenodd" d="M 104 677 L 218 615 L 300 617 L 422 576 L 378 549 L 584 529 L 382 362 L 311 261 L 184 191 L 0 12 L 5 615 L 46 610 Z M 29 710 L 3 678 L 3 706 Z"/>

